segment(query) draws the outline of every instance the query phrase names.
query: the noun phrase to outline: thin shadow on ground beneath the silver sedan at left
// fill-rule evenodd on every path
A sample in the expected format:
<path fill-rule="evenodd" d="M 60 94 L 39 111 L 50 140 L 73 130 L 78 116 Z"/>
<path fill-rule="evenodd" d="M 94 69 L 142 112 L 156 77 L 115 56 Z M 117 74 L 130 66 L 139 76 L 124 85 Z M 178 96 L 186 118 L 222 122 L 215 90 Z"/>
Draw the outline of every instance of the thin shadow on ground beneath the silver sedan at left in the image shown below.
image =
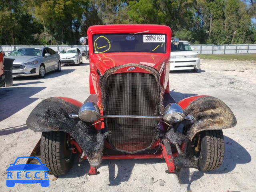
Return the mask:
<path fill-rule="evenodd" d="M 62 76 L 62 75 L 66 75 L 66 74 L 69 74 L 71 72 L 73 72 L 74 69 L 61 69 L 61 72 L 48 72 L 45 74 L 44 78 L 42 79 L 49 79 L 49 78 L 55 78 L 55 77 L 59 77 L 59 76 Z M 38 78 L 37 76 L 25 76 L 25 77 L 22 77 L 22 76 L 19 76 L 19 77 L 14 77 L 13 80 L 35 80 L 35 79 L 41 79 L 41 78 Z"/>

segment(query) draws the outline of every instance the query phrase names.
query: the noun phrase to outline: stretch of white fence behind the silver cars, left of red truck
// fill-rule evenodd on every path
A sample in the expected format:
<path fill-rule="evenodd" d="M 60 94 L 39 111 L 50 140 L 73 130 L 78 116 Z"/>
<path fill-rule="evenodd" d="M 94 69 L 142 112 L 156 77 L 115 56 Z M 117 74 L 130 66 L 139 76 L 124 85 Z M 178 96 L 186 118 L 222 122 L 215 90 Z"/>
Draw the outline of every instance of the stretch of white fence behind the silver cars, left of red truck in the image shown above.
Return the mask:
<path fill-rule="evenodd" d="M 49 45 L 49 46 L 43 46 L 43 45 L 0 45 L 0 51 L 4 51 L 5 53 L 9 53 L 13 51 L 14 49 L 22 48 L 22 47 L 36 47 L 36 48 L 43 48 L 43 47 L 50 47 L 54 51 L 61 51 L 64 48 L 74 48 L 77 47 L 81 52 L 86 50 L 88 51 L 88 45 Z"/>

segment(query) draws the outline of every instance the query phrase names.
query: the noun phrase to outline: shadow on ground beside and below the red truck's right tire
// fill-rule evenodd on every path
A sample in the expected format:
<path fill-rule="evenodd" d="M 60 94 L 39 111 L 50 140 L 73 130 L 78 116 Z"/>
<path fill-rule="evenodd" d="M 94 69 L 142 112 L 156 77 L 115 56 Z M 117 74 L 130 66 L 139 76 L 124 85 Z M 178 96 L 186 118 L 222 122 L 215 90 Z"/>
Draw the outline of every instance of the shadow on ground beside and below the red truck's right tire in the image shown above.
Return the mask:
<path fill-rule="evenodd" d="M 224 136 L 225 154 L 222 166 L 218 170 L 202 172 L 196 170 L 190 173 L 189 168 L 182 168 L 179 174 L 180 184 L 187 184 L 187 190 L 190 190 L 192 182 L 200 179 L 204 174 L 226 174 L 233 171 L 237 164 L 249 163 L 252 158 L 248 151 L 238 142 Z M 193 190 L 192 190 L 193 191 Z"/>

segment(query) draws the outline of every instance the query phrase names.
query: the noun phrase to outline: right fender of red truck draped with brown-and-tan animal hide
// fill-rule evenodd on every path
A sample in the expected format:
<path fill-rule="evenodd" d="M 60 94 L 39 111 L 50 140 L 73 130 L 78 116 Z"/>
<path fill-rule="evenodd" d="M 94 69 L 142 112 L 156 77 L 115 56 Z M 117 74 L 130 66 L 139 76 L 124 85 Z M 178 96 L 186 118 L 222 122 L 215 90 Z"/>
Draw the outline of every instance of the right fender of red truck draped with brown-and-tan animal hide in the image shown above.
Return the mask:
<path fill-rule="evenodd" d="M 220 130 L 236 125 L 236 117 L 230 108 L 212 96 L 193 96 L 178 102 L 185 115 L 194 116 L 188 125 L 186 136 L 192 140 L 200 131 Z"/>

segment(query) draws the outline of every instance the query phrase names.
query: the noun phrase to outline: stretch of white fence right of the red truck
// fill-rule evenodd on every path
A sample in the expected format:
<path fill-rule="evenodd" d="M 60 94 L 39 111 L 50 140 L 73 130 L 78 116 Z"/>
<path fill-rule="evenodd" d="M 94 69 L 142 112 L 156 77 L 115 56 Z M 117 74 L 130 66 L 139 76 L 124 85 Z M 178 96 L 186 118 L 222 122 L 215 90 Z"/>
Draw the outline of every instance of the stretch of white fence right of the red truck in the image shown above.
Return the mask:
<path fill-rule="evenodd" d="M 247 45 L 190 45 L 198 54 L 256 54 L 256 44 Z"/>

